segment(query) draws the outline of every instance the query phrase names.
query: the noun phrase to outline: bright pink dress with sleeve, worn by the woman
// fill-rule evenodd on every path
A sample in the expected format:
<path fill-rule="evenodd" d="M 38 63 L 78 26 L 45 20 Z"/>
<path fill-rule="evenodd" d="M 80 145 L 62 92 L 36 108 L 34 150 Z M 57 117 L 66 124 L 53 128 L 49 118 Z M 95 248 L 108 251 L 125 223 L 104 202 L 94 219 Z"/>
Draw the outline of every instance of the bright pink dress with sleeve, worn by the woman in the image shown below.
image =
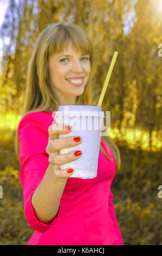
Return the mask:
<path fill-rule="evenodd" d="M 113 161 L 99 151 L 96 178 L 67 179 L 58 213 L 50 224 L 36 218 L 31 198 L 49 164 L 46 147 L 52 122 L 52 112 L 35 112 L 18 125 L 24 214 L 35 230 L 27 245 L 123 245 L 110 190 L 116 173 L 111 151 Z M 108 145 L 101 144 L 108 153 Z"/>

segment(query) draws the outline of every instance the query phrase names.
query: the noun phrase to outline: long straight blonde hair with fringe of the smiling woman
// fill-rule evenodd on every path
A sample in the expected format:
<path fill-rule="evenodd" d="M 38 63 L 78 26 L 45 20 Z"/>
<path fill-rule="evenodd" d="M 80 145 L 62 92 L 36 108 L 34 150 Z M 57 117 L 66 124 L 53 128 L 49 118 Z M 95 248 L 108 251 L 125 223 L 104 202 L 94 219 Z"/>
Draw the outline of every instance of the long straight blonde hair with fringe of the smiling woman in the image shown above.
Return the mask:
<path fill-rule="evenodd" d="M 84 29 L 72 22 L 57 22 L 47 26 L 38 36 L 32 57 L 30 58 L 21 119 L 24 115 L 32 112 L 54 112 L 58 110 L 59 103 L 49 81 L 48 57 L 52 56 L 53 53 L 63 52 L 64 47 L 67 46 L 69 41 L 73 43 L 78 52 L 89 54 L 91 74 L 93 74 L 94 50 Z M 77 105 L 93 105 L 91 74 L 84 93 L 77 97 Z M 119 169 L 121 166 L 119 149 L 109 136 L 104 136 L 103 139 L 114 155 L 116 169 Z M 107 159 L 113 160 L 104 153 L 102 147 L 100 147 L 100 150 Z M 19 160 L 20 142 L 18 139 L 18 127 L 15 136 L 15 151 Z"/>

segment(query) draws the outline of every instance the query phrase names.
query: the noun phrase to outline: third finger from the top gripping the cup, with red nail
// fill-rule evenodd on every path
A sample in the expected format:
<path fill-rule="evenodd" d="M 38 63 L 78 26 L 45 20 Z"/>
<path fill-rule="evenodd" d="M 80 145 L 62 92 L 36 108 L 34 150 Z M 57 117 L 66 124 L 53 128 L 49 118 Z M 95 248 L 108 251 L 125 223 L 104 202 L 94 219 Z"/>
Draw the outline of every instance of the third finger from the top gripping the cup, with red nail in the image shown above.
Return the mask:
<path fill-rule="evenodd" d="M 63 154 L 63 155 L 58 155 L 58 154 L 50 155 L 48 158 L 48 162 L 56 166 L 61 166 L 65 163 L 73 162 L 81 156 L 82 156 L 82 152 L 80 150 L 73 150 L 70 153 Z"/>

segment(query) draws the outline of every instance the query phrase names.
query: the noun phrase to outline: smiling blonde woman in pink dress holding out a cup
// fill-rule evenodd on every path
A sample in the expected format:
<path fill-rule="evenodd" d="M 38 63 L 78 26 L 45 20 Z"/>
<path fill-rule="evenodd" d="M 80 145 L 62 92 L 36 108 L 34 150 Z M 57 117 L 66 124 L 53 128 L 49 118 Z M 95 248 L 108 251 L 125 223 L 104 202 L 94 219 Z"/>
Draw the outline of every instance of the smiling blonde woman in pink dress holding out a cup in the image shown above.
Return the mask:
<path fill-rule="evenodd" d="M 68 179 L 73 170 L 61 170 L 61 164 L 82 153 L 59 150 L 82 138 L 70 136 L 66 124 L 63 130 L 51 126 L 59 105 L 92 105 L 92 69 L 92 46 L 78 25 L 53 23 L 36 40 L 16 138 L 24 212 L 35 229 L 28 245 L 123 245 L 110 190 L 120 168 L 119 149 L 103 137 L 97 177 Z M 59 139 L 59 133 L 69 137 Z"/>

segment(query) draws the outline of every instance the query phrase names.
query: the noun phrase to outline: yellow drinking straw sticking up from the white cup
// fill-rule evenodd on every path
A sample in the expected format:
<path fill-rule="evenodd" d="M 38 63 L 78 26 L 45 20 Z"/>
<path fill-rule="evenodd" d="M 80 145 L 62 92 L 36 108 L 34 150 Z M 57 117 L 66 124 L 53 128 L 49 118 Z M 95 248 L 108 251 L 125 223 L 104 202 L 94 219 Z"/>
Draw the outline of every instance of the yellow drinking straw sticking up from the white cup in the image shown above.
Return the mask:
<path fill-rule="evenodd" d="M 111 73 L 112 73 L 113 68 L 114 68 L 114 64 L 115 64 L 115 61 L 116 61 L 116 58 L 117 58 L 117 54 L 118 54 L 118 52 L 114 52 L 113 59 L 111 60 L 111 64 L 110 64 L 110 68 L 109 68 L 109 71 L 108 71 L 108 74 L 107 74 L 107 78 L 105 79 L 104 86 L 102 88 L 102 92 L 101 92 L 101 95 L 100 95 L 98 103 L 97 103 L 98 107 L 101 107 L 103 97 L 104 97 L 105 91 L 107 89 Z"/>

